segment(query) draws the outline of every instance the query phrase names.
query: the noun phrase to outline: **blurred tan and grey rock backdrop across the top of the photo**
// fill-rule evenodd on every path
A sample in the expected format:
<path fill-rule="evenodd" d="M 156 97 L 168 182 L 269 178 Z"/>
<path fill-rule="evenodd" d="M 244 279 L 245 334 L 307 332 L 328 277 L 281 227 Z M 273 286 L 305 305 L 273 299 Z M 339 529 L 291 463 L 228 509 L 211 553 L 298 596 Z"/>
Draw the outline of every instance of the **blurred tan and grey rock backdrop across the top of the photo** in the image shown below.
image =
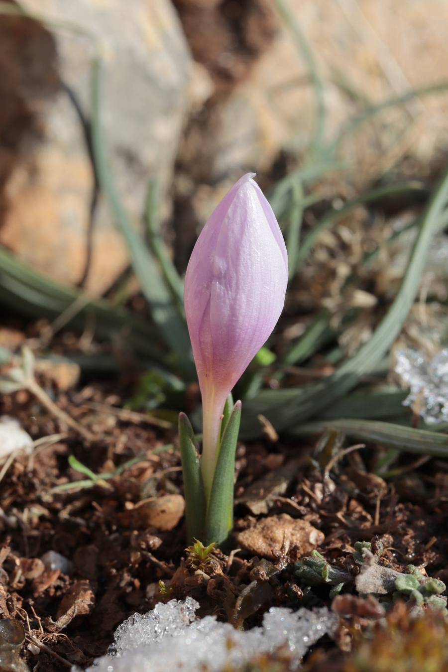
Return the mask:
<path fill-rule="evenodd" d="M 286 17 L 274 0 L 22 0 L 48 19 L 45 28 L 0 14 L 0 243 L 94 294 L 128 265 L 97 198 L 83 128 L 94 42 L 65 24 L 101 42 L 103 122 L 120 193 L 139 225 L 148 183 L 159 180 L 180 267 L 241 173 L 254 170 L 269 186 L 332 156 L 341 129 L 369 106 L 448 83 L 444 0 L 284 6 Z M 429 173 L 447 149 L 447 113 L 441 87 L 345 134 L 337 156 L 352 169 L 343 195 L 396 166 L 404 176 Z"/>

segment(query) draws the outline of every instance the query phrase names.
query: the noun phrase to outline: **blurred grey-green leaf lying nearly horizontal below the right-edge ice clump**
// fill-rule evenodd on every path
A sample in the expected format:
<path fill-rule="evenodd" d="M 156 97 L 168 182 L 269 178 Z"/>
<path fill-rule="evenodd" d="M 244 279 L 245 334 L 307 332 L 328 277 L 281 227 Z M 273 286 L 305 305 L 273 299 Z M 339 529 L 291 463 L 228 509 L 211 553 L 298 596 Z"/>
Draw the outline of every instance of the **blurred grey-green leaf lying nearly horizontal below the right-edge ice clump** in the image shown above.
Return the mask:
<path fill-rule="evenodd" d="M 446 434 L 428 431 L 427 429 L 413 429 L 393 423 L 377 420 L 326 420 L 304 425 L 298 425 L 290 431 L 294 435 L 315 435 L 330 427 L 340 429 L 347 436 L 356 441 L 365 441 L 382 444 L 391 448 L 398 448 L 408 453 L 448 457 L 448 436 Z"/>

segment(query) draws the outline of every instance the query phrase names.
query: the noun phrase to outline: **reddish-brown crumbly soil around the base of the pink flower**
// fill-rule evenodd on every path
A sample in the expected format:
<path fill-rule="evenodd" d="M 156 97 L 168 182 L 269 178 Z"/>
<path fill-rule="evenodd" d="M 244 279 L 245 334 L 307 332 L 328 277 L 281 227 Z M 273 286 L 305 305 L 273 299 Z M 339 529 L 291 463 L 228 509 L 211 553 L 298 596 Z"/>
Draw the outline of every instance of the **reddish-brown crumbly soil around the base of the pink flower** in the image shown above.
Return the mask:
<path fill-rule="evenodd" d="M 412 563 L 448 579 L 443 460 L 421 464 L 402 454 L 386 482 L 369 472 L 382 454 L 379 446 L 333 460 L 327 473 L 331 438 L 320 454 L 312 442 L 275 435 L 240 443 L 234 538 L 228 554 L 212 552 L 205 566 L 185 549 L 175 427 L 123 411 L 124 378 L 65 392 L 56 390 L 48 372 L 38 382 L 90 438 L 48 413 L 30 392 L 1 396 L 1 414 L 19 419 L 33 439 L 62 433 L 31 454 L 15 455 L 1 472 L 0 616 L 24 624 L 21 655 L 30 670 L 87 667 L 113 644 L 118 624 L 172 597 L 191 595 L 201 605 L 199 616 L 216 614 L 244 628 L 259 624 L 271 605 L 319 603 L 346 620 L 348 613 L 352 623 L 363 614 L 362 627 L 375 621 L 378 604 L 356 597 L 351 583 L 343 589 L 343 606 L 341 595 L 330 599 L 326 585 L 300 587 L 294 563 L 313 548 L 353 580 L 359 573 L 356 542 L 372 542 L 371 550 L 383 544 L 379 566 L 402 572 Z M 93 481 L 69 464 L 69 456 L 99 476 L 137 461 Z M 70 560 L 71 571 L 44 566 L 39 558 L 50 550 Z M 261 583 L 269 590 L 257 603 Z M 238 607 L 238 594 L 248 586 L 255 606 Z M 321 660 L 316 669 L 343 669 L 351 646 L 346 626 L 336 643 L 320 644 L 332 667 Z"/>

